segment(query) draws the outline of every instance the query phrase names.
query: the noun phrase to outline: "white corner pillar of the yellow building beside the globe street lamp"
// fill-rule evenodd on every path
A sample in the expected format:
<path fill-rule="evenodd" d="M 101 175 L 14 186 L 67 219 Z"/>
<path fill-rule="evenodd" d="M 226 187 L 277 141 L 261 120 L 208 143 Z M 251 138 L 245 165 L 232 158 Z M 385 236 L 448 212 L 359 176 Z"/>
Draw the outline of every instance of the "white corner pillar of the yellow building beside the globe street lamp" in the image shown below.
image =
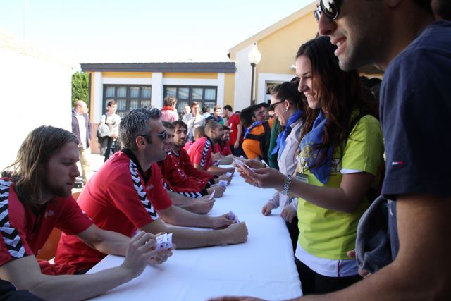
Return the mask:
<path fill-rule="evenodd" d="M 236 73 L 235 73 L 235 93 L 233 95 L 233 111 L 241 111 L 250 105 L 251 100 L 251 78 L 252 67 L 247 59 L 247 54 L 251 51 L 253 44 L 237 52 Z M 259 67 L 257 66 L 256 72 Z"/>

